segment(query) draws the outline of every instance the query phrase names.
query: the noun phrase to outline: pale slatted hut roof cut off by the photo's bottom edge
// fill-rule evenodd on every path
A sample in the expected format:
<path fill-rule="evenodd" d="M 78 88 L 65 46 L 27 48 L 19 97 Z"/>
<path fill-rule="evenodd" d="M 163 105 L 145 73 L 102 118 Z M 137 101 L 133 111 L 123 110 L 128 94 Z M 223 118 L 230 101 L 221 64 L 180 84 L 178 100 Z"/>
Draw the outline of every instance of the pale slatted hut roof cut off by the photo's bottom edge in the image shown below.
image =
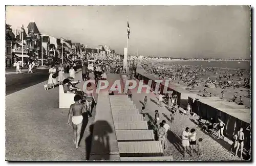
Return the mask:
<path fill-rule="evenodd" d="M 172 156 L 157 157 L 120 157 L 120 161 L 173 161 Z"/>

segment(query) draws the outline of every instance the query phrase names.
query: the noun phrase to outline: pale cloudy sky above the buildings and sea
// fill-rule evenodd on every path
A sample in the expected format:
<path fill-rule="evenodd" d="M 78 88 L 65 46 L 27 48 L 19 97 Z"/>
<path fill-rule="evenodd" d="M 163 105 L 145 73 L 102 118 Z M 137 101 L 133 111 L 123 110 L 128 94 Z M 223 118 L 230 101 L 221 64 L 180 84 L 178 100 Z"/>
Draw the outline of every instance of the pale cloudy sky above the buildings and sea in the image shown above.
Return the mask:
<path fill-rule="evenodd" d="M 248 6 L 7 6 L 13 29 L 34 21 L 41 33 L 123 54 L 250 59 Z"/>

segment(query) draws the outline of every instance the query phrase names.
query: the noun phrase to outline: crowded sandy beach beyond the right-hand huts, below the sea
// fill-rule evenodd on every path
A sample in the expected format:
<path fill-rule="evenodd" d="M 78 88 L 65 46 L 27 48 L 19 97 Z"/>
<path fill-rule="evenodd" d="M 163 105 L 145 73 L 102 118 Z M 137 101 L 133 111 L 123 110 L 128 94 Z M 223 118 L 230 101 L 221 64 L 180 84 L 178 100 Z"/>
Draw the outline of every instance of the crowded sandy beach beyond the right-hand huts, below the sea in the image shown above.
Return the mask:
<path fill-rule="evenodd" d="M 233 88 L 233 86 L 230 87 L 225 87 L 225 88 L 221 88 L 221 87 L 215 87 L 213 82 L 217 79 L 219 79 L 220 76 L 222 76 L 221 80 L 223 81 L 233 81 L 234 83 L 236 83 L 236 85 L 238 85 L 239 82 L 239 78 L 236 75 L 236 69 L 224 69 L 224 68 L 214 68 L 214 71 L 212 71 L 211 67 L 199 67 L 199 66 L 187 66 L 187 65 L 162 65 L 161 63 L 144 63 L 142 64 L 142 66 L 144 67 L 144 69 L 146 70 L 146 72 L 148 74 L 153 74 L 155 75 L 156 78 L 159 79 L 169 79 L 172 78 L 171 75 L 168 75 L 168 73 L 172 73 L 172 75 L 174 76 L 173 78 L 175 79 L 169 79 L 170 83 L 179 83 L 179 84 L 185 84 L 190 88 L 193 88 L 193 85 L 191 84 L 191 79 L 193 79 L 193 77 L 196 76 L 196 78 L 194 79 L 195 82 L 197 82 L 197 84 L 194 86 L 194 90 L 198 90 L 198 91 L 204 91 L 206 90 L 206 92 L 211 93 L 211 96 L 215 96 L 215 97 L 222 97 L 222 91 L 224 91 L 224 100 L 227 101 L 232 101 L 233 96 L 236 93 L 237 96 L 237 102 L 240 102 L 240 96 L 241 96 L 241 100 L 242 103 L 250 108 L 250 97 L 248 97 L 250 88 L 243 86 L 244 85 L 244 79 L 249 79 L 250 80 L 250 70 L 241 70 L 241 72 L 243 73 L 242 80 L 240 81 L 240 87 L 238 88 L 236 86 L 236 88 Z M 158 68 L 158 73 L 159 74 L 154 74 L 153 69 L 154 68 Z M 177 68 L 182 68 L 182 72 L 177 72 Z M 178 74 L 186 74 L 185 77 L 182 76 L 182 79 L 180 79 L 179 77 L 176 76 L 176 73 Z M 165 76 L 164 76 L 165 74 Z M 231 75 L 230 78 L 224 78 L 224 75 Z M 207 84 L 207 79 L 209 80 L 209 87 L 205 87 L 205 85 Z M 186 82 L 184 82 L 186 81 Z M 250 85 L 250 81 L 249 81 L 249 85 Z"/>

